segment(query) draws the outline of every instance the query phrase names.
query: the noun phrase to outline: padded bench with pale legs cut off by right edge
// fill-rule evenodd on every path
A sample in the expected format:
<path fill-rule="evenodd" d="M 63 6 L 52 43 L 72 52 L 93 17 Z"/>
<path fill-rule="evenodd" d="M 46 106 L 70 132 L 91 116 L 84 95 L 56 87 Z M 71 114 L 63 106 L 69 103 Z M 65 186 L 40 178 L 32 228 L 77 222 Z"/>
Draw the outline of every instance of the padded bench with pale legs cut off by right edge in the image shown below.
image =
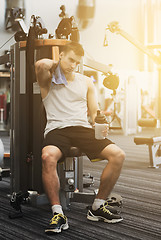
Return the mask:
<path fill-rule="evenodd" d="M 161 136 L 148 137 L 148 136 L 136 136 L 134 137 L 136 145 L 148 145 L 149 148 L 149 161 L 151 168 L 159 168 L 161 164 Z"/>

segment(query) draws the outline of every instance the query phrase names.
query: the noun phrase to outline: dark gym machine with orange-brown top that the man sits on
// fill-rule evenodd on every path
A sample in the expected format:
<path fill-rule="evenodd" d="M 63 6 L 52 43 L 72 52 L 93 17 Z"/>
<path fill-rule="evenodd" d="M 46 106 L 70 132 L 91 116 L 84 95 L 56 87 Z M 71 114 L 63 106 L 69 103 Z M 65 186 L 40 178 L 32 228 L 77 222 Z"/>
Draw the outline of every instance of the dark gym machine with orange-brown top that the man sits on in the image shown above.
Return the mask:
<path fill-rule="evenodd" d="M 25 36 L 27 41 L 21 41 L 23 35 L 19 36 L 19 41 L 11 46 L 10 52 L 0 57 L 0 64 L 10 62 L 11 65 L 10 203 L 18 211 L 17 214 L 11 214 L 11 218 L 22 216 L 20 205 L 23 202 L 30 200 L 33 205 L 47 202 L 41 180 L 41 146 L 46 118 L 34 63 L 42 58 L 58 61 L 59 49 L 68 42 L 67 39 L 38 39 L 37 35 L 44 29 L 40 24 L 35 24 L 36 20 L 32 16 L 29 35 Z M 83 64 L 105 74 L 110 71 L 109 66 L 88 58 L 84 59 Z M 80 71 L 83 70 L 83 64 L 80 65 Z M 96 192 L 83 193 L 81 158 L 83 155 L 80 150 L 72 147 L 70 156 L 58 164 L 60 200 L 64 209 L 68 209 L 71 201 L 90 203 L 96 195 Z M 110 195 L 108 200 L 116 205 L 122 202 L 117 194 Z"/>

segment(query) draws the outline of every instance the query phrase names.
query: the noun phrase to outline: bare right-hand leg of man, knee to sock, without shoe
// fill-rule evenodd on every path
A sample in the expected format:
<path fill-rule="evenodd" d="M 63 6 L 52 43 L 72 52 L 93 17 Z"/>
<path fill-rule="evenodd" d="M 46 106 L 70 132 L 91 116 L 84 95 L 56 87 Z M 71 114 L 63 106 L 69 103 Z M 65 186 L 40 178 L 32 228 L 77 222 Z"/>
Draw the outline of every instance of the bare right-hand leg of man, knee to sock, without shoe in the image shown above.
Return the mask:
<path fill-rule="evenodd" d="M 110 144 L 103 149 L 100 153 L 100 157 L 102 159 L 107 159 L 108 163 L 102 172 L 99 191 L 96 198 L 105 200 L 111 193 L 117 179 L 120 176 L 123 161 L 125 159 L 125 153 L 115 144 Z"/>

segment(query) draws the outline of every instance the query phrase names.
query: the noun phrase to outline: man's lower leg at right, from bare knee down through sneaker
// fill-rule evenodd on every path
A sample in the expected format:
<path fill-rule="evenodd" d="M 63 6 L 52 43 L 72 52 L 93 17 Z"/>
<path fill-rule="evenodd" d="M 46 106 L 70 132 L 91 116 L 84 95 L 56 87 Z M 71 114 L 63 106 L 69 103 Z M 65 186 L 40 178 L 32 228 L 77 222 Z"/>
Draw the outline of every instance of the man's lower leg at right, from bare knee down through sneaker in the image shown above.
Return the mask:
<path fill-rule="evenodd" d="M 116 209 L 108 206 L 105 200 L 120 176 L 125 153 L 116 145 L 110 144 L 102 150 L 99 157 L 107 159 L 108 163 L 102 172 L 99 191 L 91 209 L 88 211 L 87 218 L 92 221 L 103 220 L 108 223 L 117 223 L 122 221 L 123 218 Z"/>

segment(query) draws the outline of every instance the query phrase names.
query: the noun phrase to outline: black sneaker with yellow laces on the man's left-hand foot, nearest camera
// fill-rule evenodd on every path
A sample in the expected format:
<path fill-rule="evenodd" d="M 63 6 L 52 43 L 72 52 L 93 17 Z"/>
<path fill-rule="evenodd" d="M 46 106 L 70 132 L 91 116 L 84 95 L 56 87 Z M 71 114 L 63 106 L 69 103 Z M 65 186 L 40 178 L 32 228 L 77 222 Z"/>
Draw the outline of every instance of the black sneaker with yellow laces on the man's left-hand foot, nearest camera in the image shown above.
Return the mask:
<path fill-rule="evenodd" d="M 60 233 L 61 230 L 67 230 L 69 228 L 68 220 L 65 215 L 61 213 L 54 213 L 54 217 L 50 220 L 48 228 L 45 233 Z"/>

